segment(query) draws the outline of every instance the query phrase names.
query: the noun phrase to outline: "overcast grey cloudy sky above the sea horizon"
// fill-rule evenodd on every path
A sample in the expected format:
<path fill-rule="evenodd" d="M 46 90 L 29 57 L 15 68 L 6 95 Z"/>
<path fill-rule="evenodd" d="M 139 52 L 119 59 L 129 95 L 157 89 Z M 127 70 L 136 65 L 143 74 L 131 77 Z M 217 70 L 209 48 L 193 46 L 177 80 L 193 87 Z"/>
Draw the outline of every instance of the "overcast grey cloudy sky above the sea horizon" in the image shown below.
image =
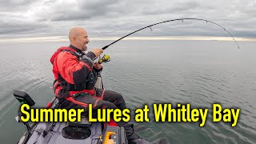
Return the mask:
<path fill-rule="evenodd" d="M 74 26 L 94 40 L 114 39 L 176 18 L 206 19 L 237 40 L 255 40 L 255 7 L 256 0 L 0 0 L 0 42 L 67 40 Z M 139 38 L 232 39 L 222 28 L 195 20 L 167 22 L 130 37 Z"/>

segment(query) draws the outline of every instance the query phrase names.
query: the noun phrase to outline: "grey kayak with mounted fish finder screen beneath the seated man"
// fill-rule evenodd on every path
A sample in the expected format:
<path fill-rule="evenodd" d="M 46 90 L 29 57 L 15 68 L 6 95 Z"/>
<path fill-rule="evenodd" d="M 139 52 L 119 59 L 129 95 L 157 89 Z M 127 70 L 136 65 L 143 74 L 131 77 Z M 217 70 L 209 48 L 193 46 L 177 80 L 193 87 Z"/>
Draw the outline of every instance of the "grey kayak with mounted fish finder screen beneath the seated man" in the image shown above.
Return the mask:
<path fill-rule="evenodd" d="M 103 89 L 102 77 L 98 75 L 96 88 Z M 14 90 L 14 97 L 22 104 L 34 106 L 34 101 L 28 94 L 22 91 Z M 21 104 L 21 105 L 22 105 Z M 53 98 L 46 108 L 56 109 L 58 98 Z M 16 120 L 20 120 L 22 114 L 18 112 Z M 29 125 L 28 122 L 22 122 L 26 126 L 26 132 L 18 141 L 18 144 L 54 144 L 54 143 L 72 143 L 72 144 L 98 144 L 113 143 L 126 144 L 126 134 L 123 127 L 103 126 L 102 122 L 88 122 L 88 118 L 82 117 L 81 122 L 34 122 Z"/>

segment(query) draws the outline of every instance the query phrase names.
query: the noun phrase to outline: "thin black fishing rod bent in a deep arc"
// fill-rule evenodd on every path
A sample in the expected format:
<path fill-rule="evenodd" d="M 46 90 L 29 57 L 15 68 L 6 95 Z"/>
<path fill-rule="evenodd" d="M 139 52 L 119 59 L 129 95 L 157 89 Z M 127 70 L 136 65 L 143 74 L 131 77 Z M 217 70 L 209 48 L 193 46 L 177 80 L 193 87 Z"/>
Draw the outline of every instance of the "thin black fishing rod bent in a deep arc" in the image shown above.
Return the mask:
<path fill-rule="evenodd" d="M 226 31 L 228 34 L 230 34 L 230 32 L 229 32 L 228 30 L 226 30 L 223 26 L 220 26 L 220 25 L 218 25 L 218 23 L 211 22 L 211 21 L 208 21 L 208 20 L 206 20 L 206 19 L 200 19 L 200 18 L 178 18 L 178 19 L 171 19 L 171 20 L 168 20 L 168 21 L 163 21 L 163 22 L 154 23 L 154 24 L 152 24 L 152 25 L 150 25 L 150 26 L 145 26 L 145 27 L 143 27 L 143 28 L 141 28 L 141 29 L 139 29 L 139 30 L 135 30 L 134 32 L 132 32 L 132 33 L 130 33 L 130 34 L 127 34 L 127 35 L 123 36 L 122 38 L 126 38 L 126 37 L 128 37 L 129 35 L 134 34 L 134 33 L 138 32 L 138 31 L 140 31 L 140 30 L 146 29 L 146 28 L 148 28 L 148 27 L 150 28 L 150 30 L 152 30 L 152 29 L 151 29 L 151 26 L 159 25 L 159 24 L 161 24 L 161 23 L 165 23 L 165 22 L 174 22 L 174 21 L 182 21 L 182 22 L 183 22 L 184 20 L 198 20 L 198 21 L 205 21 L 206 23 L 207 23 L 207 22 L 210 22 L 210 23 L 213 23 L 214 25 L 217 25 L 217 26 L 221 27 L 224 31 Z M 237 44 L 238 49 L 239 49 L 240 47 L 239 47 L 239 45 L 238 45 L 238 42 L 234 39 L 234 37 L 233 37 L 232 34 L 230 34 L 230 36 L 233 38 L 234 42 Z M 108 48 L 109 46 L 113 45 L 115 42 L 120 41 L 122 38 L 119 38 L 118 40 L 116 40 L 116 41 L 110 43 L 109 45 L 102 47 L 102 50 L 106 50 L 106 48 Z"/>

